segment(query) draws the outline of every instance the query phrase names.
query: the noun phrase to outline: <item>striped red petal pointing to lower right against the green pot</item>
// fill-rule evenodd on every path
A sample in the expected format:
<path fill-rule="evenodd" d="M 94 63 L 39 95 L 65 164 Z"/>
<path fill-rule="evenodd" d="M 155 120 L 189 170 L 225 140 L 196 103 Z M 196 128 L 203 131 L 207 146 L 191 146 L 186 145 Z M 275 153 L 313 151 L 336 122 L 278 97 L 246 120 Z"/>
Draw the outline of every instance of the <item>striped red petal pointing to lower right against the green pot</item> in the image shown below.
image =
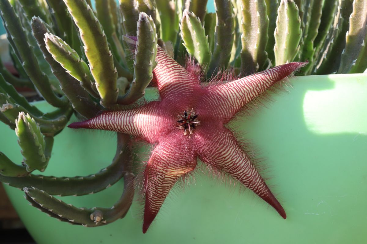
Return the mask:
<path fill-rule="evenodd" d="M 200 128 L 196 131 L 194 144 L 199 148 L 197 153 L 202 162 L 228 173 L 274 207 L 281 217 L 287 217 L 232 132 L 226 128 L 217 129 L 215 133 L 209 128 Z"/>

